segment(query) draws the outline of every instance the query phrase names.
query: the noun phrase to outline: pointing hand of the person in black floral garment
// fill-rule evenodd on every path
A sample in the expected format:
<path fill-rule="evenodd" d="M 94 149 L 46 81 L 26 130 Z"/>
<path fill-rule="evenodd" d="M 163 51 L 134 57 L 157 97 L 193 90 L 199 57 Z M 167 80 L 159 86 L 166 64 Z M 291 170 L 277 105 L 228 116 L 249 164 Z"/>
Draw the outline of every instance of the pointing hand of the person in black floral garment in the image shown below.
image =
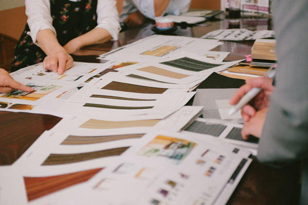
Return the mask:
<path fill-rule="evenodd" d="M 67 52 L 55 52 L 47 55 L 43 61 L 43 68 L 62 75 L 64 71 L 73 66 L 73 58 Z"/>

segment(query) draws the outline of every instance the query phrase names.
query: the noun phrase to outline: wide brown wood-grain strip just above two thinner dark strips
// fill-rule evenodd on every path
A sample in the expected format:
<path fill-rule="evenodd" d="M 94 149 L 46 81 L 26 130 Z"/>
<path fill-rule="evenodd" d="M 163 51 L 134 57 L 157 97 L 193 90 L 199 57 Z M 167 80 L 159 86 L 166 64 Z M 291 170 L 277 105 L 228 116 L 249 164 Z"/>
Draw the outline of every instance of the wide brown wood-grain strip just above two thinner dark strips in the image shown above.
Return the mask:
<path fill-rule="evenodd" d="M 101 89 L 131 92 L 131 93 L 146 93 L 146 94 L 162 94 L 167 90 L 166 88 L 152 88 L 147 86 L 138 86 L 115 81 L 112 81 L 111 83 L 109 83 L 108 85 L 106 85 Z"/>

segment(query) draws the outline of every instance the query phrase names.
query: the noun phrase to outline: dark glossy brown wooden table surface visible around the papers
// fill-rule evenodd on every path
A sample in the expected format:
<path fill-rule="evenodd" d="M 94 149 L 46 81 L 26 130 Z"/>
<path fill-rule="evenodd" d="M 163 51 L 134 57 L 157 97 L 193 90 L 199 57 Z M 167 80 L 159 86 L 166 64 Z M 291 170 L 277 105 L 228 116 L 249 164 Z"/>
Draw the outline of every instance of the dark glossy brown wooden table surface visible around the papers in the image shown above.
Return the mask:
<path fill-rule="evenodd" d="M 118 41 L 84 47 L 72 56 L 75 61 L 100 63 L 98 55 L 130 44 L 141 38 L 155 34 L 153 24 L 142 28 L 121 32 Z M 228 19 L 220 15 L 192 28 L 180 28 L 171 35 L 201 37 L 217 30 L 227 29 Z M 272 29 L 268 18 L 242 18 L 240 28 L 249 30 Z M 224 42 L 214 51 L 232 52 L 226 60 L 242 59 L 251 53 L 253 40 Z M 12 165 L 29 146 L 45 131 L 51 129 L 61 118 L 52 115 L 0 112 L 0 166 Z M 227 204 L 297 204 L 299 200 L 300 162 L 294 162 L 283 169 L 262 165 L 256 159 L 244 174 L 234 194 Z"/>

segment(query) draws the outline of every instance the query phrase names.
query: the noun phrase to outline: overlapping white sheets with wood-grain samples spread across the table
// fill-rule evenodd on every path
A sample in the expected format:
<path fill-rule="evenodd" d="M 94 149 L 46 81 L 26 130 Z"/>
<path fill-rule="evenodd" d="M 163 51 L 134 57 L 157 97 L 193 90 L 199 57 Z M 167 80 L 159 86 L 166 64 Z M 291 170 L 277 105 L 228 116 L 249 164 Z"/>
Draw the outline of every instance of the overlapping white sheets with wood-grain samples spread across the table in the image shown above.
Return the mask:
<path fill-rule="evenodd" d="M 123 198 L 113 202 L 141 196 L 141 204 L 225 203 L 249 165 L 250 152 L 217 141 L 213 133 L 178 133 L 194 130 L 201 114 L 202 107 L 184 106 L 196 94 L 190 91 L 239 62 L 223 62 L 228 52 L 208 51 L 221 44 L 153 35 L 100 56 L 101 64 L 74 62 L 63 75 L 42 64 L 11 73 L 35 90 L 1 94 L 0 110 L 63 119 L 12 166 L 0 167 L 0 203 L 72 202 L 67 197 L 80 195 L 81 188 L 87 199 L 99 193 L 95 197 L 103 194 L 111 202 L 117 190 Z M 218 104 L 222 108 L 225 101 Z M 238 125 L 226 130 L 234 133 L 233 128 Z M 226 132 L 221 136 L 230 136 Z M 116 161 L 129 147 L 132 151 Z M 114 172 L 115 182 L 105 187 Z M 101 203 L 95 197 L 89 203 Z"/>

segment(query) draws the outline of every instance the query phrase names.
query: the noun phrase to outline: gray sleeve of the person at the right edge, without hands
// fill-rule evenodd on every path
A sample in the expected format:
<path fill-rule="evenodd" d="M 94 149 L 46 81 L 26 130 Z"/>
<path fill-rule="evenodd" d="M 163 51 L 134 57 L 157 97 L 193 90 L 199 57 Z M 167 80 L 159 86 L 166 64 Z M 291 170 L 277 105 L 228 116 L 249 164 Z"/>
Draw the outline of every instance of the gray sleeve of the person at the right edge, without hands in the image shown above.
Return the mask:
<path fill-rule="evenodd" d="M 308 0 L 274 2 L 278 67 L 258 159 L 272 166 L 308 158 Z"/>

